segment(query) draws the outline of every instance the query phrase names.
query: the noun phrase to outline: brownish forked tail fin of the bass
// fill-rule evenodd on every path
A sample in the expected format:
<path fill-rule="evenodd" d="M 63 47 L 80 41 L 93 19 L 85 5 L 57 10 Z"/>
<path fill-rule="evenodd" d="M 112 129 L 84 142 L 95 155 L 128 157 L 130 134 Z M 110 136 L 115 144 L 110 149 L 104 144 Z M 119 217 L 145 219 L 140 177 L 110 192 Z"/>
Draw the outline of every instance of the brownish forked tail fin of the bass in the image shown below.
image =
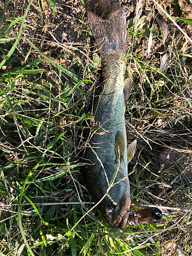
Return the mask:
<path fill-rule="evenodd" d="M 88 20 L 101 59 L 110 55 L 126 55 L 126 15 L 120 8 L 109 19 L 101 19 L 88 11 Z"/>

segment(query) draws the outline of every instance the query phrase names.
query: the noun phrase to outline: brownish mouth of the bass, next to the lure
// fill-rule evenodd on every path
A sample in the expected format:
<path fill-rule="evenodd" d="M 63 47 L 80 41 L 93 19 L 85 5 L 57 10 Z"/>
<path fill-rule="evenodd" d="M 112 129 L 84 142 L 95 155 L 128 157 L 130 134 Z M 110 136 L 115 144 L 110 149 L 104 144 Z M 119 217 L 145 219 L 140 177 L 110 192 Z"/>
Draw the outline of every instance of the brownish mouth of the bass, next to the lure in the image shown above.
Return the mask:
<path fill-rule="evenodd" d="M 125 227 L 129 217 L 130 205 L 131 205 L 130 197 L 127 197 L 126 195 L 123 196 L 119 203 L 117 215 L 115 215 L 116 221 L 112 227 L 114 228 L 119 227 L 121 229 Z"/>

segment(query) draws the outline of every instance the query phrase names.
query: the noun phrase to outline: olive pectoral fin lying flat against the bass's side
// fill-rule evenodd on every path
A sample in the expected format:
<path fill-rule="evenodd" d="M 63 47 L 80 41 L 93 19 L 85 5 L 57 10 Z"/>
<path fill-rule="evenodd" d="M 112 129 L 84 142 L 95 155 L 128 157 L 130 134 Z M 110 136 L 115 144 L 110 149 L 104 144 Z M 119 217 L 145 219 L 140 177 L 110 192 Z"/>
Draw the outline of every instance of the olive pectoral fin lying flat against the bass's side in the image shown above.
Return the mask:
<path fill-rule="evenodd" d="M 115 135 L 115 155 L 116 159 L 124 160 L 124 149 L 125 149 L 125 140 L 120 131 Z"/>

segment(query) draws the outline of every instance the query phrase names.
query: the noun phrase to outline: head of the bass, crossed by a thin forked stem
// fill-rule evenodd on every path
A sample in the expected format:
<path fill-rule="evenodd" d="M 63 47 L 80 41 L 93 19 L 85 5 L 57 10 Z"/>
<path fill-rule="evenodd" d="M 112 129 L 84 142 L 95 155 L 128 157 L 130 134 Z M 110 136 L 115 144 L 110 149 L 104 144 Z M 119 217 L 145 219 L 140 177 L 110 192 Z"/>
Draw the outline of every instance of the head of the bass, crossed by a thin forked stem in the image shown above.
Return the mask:
<path fill-rule="evenodd" d="M 123 229 L 129 217 L 131 205 L 130 182 L 127 177 L 126 161 L 117 168 L 115 161 L 106 161 L 100 168 L 95 184 L 92 184 L 92 197 L 98 204 L 104 219 L 114 228 Z M 111 185 L 110 185 L 111 184 Z M 105 197 L 103 198 L 103 195 Z"/>

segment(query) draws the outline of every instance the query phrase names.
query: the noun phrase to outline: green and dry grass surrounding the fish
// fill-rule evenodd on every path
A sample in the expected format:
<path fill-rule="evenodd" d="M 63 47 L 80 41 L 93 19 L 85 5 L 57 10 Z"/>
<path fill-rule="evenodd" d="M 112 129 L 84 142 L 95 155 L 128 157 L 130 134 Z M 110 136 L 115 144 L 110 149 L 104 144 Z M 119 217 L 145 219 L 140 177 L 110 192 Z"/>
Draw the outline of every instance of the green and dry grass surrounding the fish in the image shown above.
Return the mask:
<path fill-rule="evenodd" d="M 155 54 L 143 58 L 143 47 L 132 52 L 127 42 L 134 80 L 125 112 L 127 139 L 137 139 L 129 165 L 131 197 L 143 206 L 158 205 L 165 221 L 113 229 L 80 175 L 78 153 L 90 119 L 84 106 L 99 73 L 98 55 L 86 43 L 84 12 L 78 23 L 83 32 L 77 30 L 84 41 L 60 44 L 28 36 L 31 29 L 42 30 L 40 22 L 25 19 L 42 12 L 40 7 L 32 3 L 20 16 L 15 7 L 6 16 L 8 6 L 0 32 L 1 255 L 189 255 L 191 54 L 172 37 L 168 67 L 160 72 Z M 127 26 L 128 38 L 135 33 L 139 43 L 149 32 Z"/>

